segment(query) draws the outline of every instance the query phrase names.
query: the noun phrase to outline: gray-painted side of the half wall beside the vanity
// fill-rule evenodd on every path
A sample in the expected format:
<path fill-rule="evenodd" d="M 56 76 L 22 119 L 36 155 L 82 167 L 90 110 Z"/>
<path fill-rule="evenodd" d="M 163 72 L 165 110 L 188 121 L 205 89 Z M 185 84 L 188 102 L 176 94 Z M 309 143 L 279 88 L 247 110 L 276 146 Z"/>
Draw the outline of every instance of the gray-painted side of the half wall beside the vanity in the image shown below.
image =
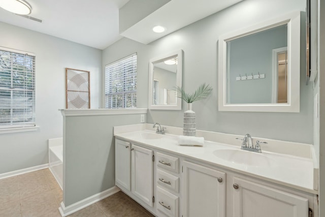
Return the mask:
<path fill-rule="evenodd" d="M 115 185 L 113 127 L 140 123 L 140 114 L 64 117 L 63 203 L 67 207 Z"/>

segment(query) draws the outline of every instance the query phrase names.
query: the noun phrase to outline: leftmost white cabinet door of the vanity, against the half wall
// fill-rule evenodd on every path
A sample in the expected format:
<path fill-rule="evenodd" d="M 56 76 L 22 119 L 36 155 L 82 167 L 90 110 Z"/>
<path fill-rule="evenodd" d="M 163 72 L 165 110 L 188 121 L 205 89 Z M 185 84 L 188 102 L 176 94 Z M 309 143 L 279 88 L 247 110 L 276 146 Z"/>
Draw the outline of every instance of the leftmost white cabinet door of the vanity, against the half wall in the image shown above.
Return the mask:
<path fill-rule="evenodd" d="M 131 143 L 115 139 L 115 184 L 131 191 Z"/>

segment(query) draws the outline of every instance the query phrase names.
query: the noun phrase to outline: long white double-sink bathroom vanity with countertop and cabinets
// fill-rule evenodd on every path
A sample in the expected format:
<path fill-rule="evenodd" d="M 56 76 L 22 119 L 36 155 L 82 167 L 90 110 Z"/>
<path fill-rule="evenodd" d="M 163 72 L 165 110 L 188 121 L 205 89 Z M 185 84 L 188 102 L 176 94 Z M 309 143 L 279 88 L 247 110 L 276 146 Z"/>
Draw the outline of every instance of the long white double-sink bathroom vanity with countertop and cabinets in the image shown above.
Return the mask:
<path fill-rule="evenodd" d="M 202 147 L 180 146 L 182 129 L 167 130 L 114 127 L 116 185 L 156 216 L 318 216 L 312 145 L 258 138 L 268 144 L 254 153 L 198 131 Z"/>

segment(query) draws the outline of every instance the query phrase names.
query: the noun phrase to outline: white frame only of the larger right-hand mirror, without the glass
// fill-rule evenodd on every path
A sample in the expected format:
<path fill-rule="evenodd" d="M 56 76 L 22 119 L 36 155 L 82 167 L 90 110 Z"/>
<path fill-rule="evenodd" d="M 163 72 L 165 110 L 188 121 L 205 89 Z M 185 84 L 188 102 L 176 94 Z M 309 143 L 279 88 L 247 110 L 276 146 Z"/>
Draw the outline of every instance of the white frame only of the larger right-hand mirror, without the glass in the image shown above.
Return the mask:
<path fill-rule="evenodd" d="M 288 99 L 287 103 L 227 104 L 226 103 L 226 42 L 287 23 Z M 219 111 L 299 112 L 300 111 L 300 12 L 291 12 L 236 32 L 218 40 L 218 108 Z"/>

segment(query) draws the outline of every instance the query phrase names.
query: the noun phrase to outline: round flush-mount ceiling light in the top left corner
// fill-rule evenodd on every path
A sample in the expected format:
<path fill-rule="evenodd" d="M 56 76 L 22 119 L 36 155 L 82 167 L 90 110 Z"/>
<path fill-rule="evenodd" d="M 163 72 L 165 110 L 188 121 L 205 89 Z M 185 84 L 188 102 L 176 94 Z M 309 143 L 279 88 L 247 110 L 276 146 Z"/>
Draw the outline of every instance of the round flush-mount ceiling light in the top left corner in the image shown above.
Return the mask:
<path fill-rule="evenodd" d="M 0 7 L 15 14 L 31 13 L 31 6 L 24 0 L 0 0 Z"/>

